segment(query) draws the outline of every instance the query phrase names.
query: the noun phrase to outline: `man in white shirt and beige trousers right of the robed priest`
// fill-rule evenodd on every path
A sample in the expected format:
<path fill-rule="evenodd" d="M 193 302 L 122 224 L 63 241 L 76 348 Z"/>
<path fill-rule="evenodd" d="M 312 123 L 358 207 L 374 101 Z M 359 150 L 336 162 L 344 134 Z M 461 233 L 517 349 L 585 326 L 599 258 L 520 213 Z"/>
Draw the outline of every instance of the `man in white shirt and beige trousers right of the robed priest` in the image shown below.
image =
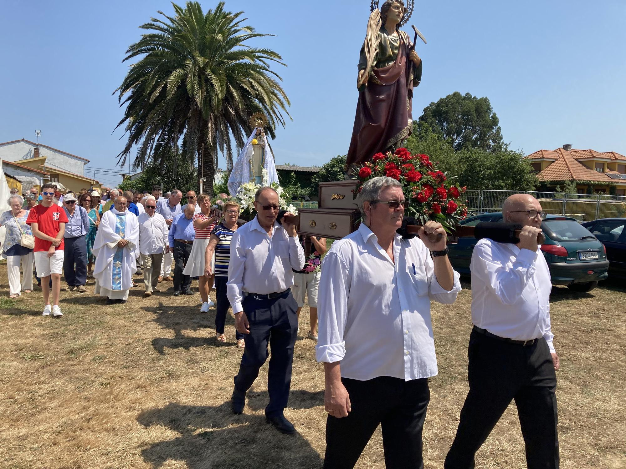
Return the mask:
<path fill-rule="evenodd" d="M 156 290 L 163 253 L 169 250 L 167 223 L 162 214 L 156 213 L 155 210 L 156 200 L 150 196 L 145 201 L 145 213 L 137 217 L 139 250 L 143 261 L 143 283 L 146 286 L 144 298 L 148 298 Z"/>

